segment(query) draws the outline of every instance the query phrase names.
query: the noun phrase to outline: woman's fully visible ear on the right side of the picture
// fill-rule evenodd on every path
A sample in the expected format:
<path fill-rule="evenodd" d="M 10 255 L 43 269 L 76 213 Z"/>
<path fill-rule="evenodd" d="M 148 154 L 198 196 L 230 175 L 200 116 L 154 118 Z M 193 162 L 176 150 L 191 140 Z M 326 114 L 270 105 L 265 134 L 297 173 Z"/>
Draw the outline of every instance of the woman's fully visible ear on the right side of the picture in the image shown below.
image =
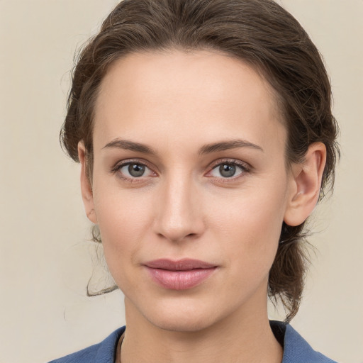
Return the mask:
<path fill-rule="evenodd" d="M 303 162 L 291 166 L 291 188 L 284 215 L 287 225 L 303 223 L 318 203 L 325 161 L 325 145 L 313 143 Z"/>

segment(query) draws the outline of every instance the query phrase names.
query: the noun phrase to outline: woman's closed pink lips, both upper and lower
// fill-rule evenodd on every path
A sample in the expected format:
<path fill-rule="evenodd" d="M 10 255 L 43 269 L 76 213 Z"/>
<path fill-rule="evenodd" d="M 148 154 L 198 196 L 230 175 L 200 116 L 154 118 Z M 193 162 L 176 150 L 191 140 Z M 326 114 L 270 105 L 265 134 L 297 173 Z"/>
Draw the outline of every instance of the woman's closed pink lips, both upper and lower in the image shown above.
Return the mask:
<path fill-rule="evenodd" d="M 156 284 L 164 289 L 192 289 L 208 279 L 217 266 L 199 259 L 155 259 L 145 267 Z"/>

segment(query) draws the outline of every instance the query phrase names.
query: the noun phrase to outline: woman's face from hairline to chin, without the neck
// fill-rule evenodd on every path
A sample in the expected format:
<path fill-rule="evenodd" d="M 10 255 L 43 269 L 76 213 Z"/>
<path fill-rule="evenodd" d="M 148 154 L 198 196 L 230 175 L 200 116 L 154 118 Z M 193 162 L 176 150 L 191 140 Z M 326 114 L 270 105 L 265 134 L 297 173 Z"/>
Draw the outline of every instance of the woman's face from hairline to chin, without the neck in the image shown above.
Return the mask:
<path fill-rule="evenodd" d="M 213 52 L 128 55 L 93 140 L 86 210 L 126 317 L 191 331 L 264 312 L 292 185 L 267 82 Z"/>

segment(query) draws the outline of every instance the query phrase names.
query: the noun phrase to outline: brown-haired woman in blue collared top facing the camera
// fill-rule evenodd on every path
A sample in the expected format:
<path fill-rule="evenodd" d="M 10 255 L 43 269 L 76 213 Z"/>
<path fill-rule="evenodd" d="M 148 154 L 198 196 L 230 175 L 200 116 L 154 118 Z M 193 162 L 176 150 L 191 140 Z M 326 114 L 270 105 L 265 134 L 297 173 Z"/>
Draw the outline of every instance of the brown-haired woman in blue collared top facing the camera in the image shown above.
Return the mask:
<path fill-rule="evenodd" d="M 336 135 L 318 50 L 273 1 L 118 4 L 74 69 L 62 141 L 127 329 L 54 362 L 333 362 L 288 323 Z"/>

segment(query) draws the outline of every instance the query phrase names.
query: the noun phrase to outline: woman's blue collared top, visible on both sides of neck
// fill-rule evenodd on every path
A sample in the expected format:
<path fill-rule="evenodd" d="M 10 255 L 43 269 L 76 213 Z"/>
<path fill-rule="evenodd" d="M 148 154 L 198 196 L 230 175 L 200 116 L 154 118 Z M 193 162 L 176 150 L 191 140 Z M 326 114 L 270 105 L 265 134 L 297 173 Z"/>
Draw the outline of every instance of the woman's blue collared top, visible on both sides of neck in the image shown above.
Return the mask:
<path fill-rule="evenodd" d="M 315 352 L 291 325 L 278 321 L 271 321 L 270 324 L 277 340 L 284 345 L 282 363 L 336 363 Z M 124 331 L 125 327 L 119 328 L 103 342 L 49 363 L 115 363 L 118 339 Z"/>

